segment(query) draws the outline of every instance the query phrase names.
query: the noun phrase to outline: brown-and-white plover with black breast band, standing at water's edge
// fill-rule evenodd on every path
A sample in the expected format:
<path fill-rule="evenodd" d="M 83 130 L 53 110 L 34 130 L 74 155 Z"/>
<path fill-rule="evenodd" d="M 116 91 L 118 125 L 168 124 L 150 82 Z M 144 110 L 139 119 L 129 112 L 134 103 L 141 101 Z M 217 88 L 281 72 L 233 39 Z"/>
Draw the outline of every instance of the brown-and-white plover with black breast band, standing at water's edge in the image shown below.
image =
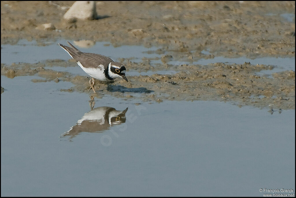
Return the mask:
<path fill-rule="evenodd" d="M 100 81 L 110 81 L 117 77 L 121 77 L 126 82 L 126 68 L 122 63 L 114 62 L 111 58 L 95 54 L 81 52 L 79 49 L 74 47 L 69 41 L 67 43 L 71 46 L 65 46 L 59 43 L 59 46 L 65 49 L 65 51 L 77 62 L 77 64 L 85 71 L 91 79 L 89 80 L 90 89 L 94 90 L 95 79 Z"/>

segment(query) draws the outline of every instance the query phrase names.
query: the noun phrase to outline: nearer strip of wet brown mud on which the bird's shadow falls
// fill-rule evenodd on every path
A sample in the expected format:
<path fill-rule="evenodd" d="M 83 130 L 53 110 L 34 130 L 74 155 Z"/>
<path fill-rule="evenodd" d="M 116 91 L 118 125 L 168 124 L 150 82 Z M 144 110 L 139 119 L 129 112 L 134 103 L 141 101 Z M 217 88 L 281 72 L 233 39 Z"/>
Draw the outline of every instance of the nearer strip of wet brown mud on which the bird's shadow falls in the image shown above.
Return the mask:
<path fill-rule="evenodd" d="M 123 63 L 125 62 L 123 61 Z M 140 74 L 150 67 L 147 63 L 145 65 L 145 62 L 125 64 L 131 64 L 128 66 L 129 70 L 138 68 L 137 71 Z M 61 91 L 86 92 L 97 98 L 100 98 L 101 94 L 110 94 L 115 97 L 137 99 L 143 102 L 218 100 L 231 101 L 242 106 L 295 109 L 295 71 L 277 72 L 270 77 L 256 75 L 258 71 L 273 69 L 271 65 L 251 65 L 250 63 L 213 63 L 207 66 L 160 64 L 157 69 L 174 70 L 176 74 L 161 75 L 156 73 L 150 76 L 128 76 L 127 71 L 128 83 L 123 79 L 115 79 L 110 82 L 96 81 L 94 85 L 95 90 L 98 90 L 96 94 L 92 91 L 89 92 L 89 78 L 87 76 L 50 69 L 55 66 L 76 66 L 76 63 L 73 60 L 47 60 L 36 64 L 1 64 L 1 75 L 6 75 L 9 78 L 24 75 L 42 77 L 32 80 L 36 83 L 72 82 L 73 87 Z M 153 70 L 153 68 L 149 70 Z"/>

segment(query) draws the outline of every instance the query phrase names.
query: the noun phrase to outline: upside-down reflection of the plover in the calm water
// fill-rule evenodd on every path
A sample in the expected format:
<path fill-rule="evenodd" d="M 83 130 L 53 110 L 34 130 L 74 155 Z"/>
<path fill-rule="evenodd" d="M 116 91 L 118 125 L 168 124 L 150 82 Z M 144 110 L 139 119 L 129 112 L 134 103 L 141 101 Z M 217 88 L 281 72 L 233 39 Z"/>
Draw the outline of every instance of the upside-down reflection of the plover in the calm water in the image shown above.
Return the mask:
<path fill-rule="evenodd" d="M 94 108 L 94 97 L 91 97 L 89 105 L 91 111 L 84 114 L 84 116 L 77 121 L 76 125 L 63 133 L 61 137 L 69 136 L 69 140 L 79 135 L 81 132 L 103 132 L 110 129 L 110 127 L 126 122 L 126 111 L 118 111 L 113 107 L 96 107 Z"/>

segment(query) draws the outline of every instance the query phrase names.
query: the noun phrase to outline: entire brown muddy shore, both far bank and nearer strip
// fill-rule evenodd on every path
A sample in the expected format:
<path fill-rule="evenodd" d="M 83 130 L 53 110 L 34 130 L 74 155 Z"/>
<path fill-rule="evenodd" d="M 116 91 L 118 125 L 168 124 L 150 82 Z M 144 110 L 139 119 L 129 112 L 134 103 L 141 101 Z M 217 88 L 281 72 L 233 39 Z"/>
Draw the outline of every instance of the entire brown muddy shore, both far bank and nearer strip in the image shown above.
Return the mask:
<path fill-rule="evenodd" d="M 145 72 L 155 68 L 173 70 L 176 74 L 128 76 L 130 83 L 121 79 L 108 84 L 97 82 L 95 89 L 142 101 L 219 100 L 260 108 L 295 109 L 295 71 L 266 77 L 256 72 L 274 66 L 182 63 L 215 56 L 295 58 L 294 1 L 97 2 L 99 19 L 65 21 L 62 16 L 72 4 L 73 1 L 1 1 L 1 44 L 27 39 L 44 45 L 45 41 L 64 38 L 108 41 L 115 47 L 157 46 L 159 49 L 153 53 L 162 55 L 162 64 L 157 67 L 150 63 L 153 58 L 138 63 L 120 59 L 126 65 L 127 76 L 129 70 Z M 52 23 L 54 29 L 38 28 L 44 23 Z M 202 53 L 203 50 L 209 54 Z M 168 64 L 171 60 L 178 64 Z M 1 75 L 9 78 L 38 75 L 44 80 L 33 82 L 69 81 L 74 86 L 62 91 L 88 91 L 86 76 L 54 71 L 48 69 L 50 66 L 77 65 L 73 60 L 1 63 Z"/>

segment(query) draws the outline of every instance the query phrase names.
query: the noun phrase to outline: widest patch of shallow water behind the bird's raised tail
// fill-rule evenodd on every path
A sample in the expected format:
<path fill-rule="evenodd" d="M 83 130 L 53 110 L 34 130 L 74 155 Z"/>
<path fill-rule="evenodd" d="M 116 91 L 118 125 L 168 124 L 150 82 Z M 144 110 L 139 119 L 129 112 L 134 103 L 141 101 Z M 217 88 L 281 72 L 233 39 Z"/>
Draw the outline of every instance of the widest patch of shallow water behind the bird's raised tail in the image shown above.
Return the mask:
<path fill-rule="evenodd" d="M 75 41 L 70 41 L 75 44 Z M 59 39 L 55 42 L 47 42 L 46 46 L 40 46 L 36 41 L 28 42 L 27 40 L 20 40 L 17 45 L 1 45 L 1 63 L 11 64 L 17 62 L 24 63 L 37 63 L 38 61 L 47 59 L 62 59 L 69 60 L 71 57 L 65 54 L 65 51 L 59 47 L 58 43 L 67 44 L 67 40 Z M 78 47 L 83 52 L 91 52 L 108 56 L 114 60 L 117 58 L 129 58 L 126 57 L 126 51 L 128 54 L 132 54 L 137 57 L 136 60 L 140 60 L 142 57 L 155 57 L 155 54 L 143 53 L 149 50 L 156 50 L 157 47 L 146 48 L 143 46 L 119 46 L 113 47 L 108 42 L 96 42 L 90 48 Z M 45 53 L 46 52 L 46 53 Z"/>

